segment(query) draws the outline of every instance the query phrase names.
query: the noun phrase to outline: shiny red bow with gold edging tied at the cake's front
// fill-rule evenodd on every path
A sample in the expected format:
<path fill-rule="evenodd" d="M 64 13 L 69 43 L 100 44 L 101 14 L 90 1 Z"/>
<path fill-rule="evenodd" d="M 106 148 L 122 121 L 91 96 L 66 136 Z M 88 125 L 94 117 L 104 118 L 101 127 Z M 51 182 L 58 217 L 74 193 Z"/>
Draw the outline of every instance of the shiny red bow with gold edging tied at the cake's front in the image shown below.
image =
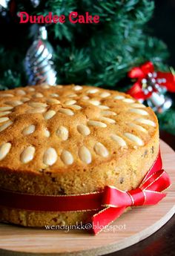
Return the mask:
<path fill-rule="evenodd" d="M 128 206 L 154 205 L 166 196 L 164 191 L 171 185 L 164 170 L 156 171 L 139 188 L 121 191 L 113 186 L 106 186 L 102 199 L 105 209 L 93 215 L 93 232 L 97 234 L 119 217 Z"/>

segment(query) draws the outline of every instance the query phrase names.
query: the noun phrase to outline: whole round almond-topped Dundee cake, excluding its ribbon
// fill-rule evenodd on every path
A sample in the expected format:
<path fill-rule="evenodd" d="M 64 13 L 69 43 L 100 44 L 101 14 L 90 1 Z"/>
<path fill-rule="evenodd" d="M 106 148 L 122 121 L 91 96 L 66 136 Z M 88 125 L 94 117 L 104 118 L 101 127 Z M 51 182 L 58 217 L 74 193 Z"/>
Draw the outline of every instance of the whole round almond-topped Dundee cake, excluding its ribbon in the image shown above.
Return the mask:
<path fill-rule="evenodd" d="M 139 186 L 159 152 L 151 108 L 117 91 L 36 85 L 0 93 L 0 188 L 70 195 Z M 0 206 L 23 226 L 73 225 L 94 211 L 27 211 Z"/>

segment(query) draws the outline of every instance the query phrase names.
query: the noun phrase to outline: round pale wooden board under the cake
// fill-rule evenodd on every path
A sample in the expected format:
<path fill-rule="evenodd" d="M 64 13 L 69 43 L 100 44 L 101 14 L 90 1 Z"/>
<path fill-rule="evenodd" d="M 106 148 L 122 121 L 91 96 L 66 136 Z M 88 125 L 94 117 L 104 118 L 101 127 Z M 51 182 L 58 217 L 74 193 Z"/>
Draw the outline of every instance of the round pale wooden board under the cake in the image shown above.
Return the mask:
<path fill-rule="evenodd" d="M 82 230 L 26 229 L 0 224 L 0 255 L 105 255 L 156 232 L 175 212 L 175 153 L 161 141 L 162 160 L 171 177 L 168 195 L 155 206 L 136 207 L 97 236 Z"/>

